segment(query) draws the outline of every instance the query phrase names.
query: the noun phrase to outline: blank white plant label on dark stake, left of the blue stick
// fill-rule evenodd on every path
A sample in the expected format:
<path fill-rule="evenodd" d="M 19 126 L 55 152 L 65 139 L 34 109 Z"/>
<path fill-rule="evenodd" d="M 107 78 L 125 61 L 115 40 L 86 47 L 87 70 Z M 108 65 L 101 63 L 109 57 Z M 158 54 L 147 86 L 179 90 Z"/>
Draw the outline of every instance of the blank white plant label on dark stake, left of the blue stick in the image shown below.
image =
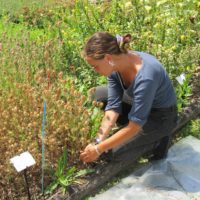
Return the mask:
<path fill-rule="evenodd" d="M 18 172 L 35 164 L 33 156 L 28 151 L 21 153 L 19 156 L 14 156 L 10 159 L 10 162 Z"/>

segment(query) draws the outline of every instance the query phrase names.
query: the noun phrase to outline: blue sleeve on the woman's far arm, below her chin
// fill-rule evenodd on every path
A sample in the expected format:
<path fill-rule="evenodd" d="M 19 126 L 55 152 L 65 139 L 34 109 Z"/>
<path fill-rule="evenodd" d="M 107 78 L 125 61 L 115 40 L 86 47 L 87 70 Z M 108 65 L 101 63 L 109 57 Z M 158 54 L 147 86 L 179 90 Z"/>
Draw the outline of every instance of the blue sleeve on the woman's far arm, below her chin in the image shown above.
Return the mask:
<path fill-rule="evenodd" d="M 123 88 L 116 77 L 116 74 L 112 74 L 108 77 L 108 103 L 106 105 L 106 110 L 114 110 L 117 113 L 122 112 L 122 96 Z"/>

